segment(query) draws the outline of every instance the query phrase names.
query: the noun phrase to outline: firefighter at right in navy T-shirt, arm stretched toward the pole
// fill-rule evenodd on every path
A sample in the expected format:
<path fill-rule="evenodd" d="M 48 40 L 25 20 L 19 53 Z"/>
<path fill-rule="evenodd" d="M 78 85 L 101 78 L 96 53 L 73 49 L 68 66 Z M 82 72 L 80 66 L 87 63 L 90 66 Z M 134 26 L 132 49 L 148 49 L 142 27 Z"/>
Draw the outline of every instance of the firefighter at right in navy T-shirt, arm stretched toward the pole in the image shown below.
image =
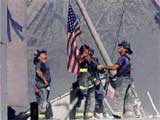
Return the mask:
<path fill-rule="evenodd" d="M 131 50 L 128 41 L 123 40 L 121 43 L 118 44 L 118 53 L 120 57 L 114 65 L 101 65 L 99 66 L 99 69 L 117 70 L 117 74 L 111 77 L 114 80 L 112 81 L 112 84 L 116 89 L 116 98 L 113 108 L 115 109 L 116 115 L 118 116 L 133 117 L 133 80 L 131 79 L 131 62 L 128 56 L 128 54 L 131 55 L 133 51 Z"/>

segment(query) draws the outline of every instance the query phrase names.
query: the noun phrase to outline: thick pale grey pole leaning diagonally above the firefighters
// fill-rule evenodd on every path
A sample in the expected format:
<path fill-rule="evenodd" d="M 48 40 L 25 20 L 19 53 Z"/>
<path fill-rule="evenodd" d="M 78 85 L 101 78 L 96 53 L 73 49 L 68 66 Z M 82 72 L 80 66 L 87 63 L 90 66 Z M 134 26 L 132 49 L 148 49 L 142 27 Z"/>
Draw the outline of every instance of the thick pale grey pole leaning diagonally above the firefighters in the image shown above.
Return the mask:
<path fill-rule="evenodd" d="M 100 52 L 100 54 L 103 58 L 103 61 L 105 62 L 106 65 L 112 65 L 112 62 L 109 58 L 109 55 L 108 55 L 107 51 L 105 50 L 105 48 L 103 46 L 103 43 L 100 40 L 100 37 L 99 37 L 99 35 L 98 35 L 94 25 L 93 25 L 88 13 L 87 13 L 87 10 L 85 9 L 82 1 L 81 0 L 76 0 L 76 3 L 79 6 L 79 9 L 80 9 L 85 21 L 86 21 L 86 24 L 87 24 L 87 26 L 88 26 L 88 28 L 89 28 L 89 30 L 90 30 L 93 38 L 94 38 L 95 44 L 96 44 L 96 46 L 97 46 L 97 48 L 98 48 L 98 50 L 99 50 L 99 52 Z M 111 74 L 115 75 L 116 71 L 111 71 Z"/>

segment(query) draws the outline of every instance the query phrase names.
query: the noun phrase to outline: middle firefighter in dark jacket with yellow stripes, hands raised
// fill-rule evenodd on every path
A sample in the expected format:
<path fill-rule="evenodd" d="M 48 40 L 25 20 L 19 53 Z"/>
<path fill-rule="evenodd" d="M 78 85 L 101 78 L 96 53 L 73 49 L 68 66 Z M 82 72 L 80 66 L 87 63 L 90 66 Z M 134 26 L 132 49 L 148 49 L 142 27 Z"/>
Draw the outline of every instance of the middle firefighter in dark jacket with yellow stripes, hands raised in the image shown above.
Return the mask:
<path fill-rule="evenodd" d="M 78 56 L 80 71 L 77 76 L 76 119 L 93 119 L 95 111 L 95 90 L 100 84 L 98 65 L 91 56 L 91 49 L 88 45 L 82 45 Z M 98 89 L 98 88 L 97 88 Z M 98 93 L 98 92 L 97 92 Z"/>

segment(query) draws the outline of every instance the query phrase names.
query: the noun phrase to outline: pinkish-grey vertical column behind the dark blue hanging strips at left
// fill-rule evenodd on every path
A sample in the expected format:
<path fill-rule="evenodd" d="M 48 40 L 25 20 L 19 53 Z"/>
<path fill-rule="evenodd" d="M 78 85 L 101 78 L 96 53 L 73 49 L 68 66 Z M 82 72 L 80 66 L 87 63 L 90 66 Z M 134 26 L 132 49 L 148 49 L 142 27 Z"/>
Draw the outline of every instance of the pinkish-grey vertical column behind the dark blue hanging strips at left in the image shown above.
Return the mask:
<path fill-rule="evenodd" d="M 17 112 L 29 107 L 28 101 L 28 71 L 27 45 L 25 36 L 26 4 L 24 0 L 8 0 L 8 9 L 12 19 L 23 27 L 21 36 L 15 32 L 16 26 L 10 24 L 12 41 L 7 46 L 7 85 L 8 104 Z M 23 97 L 22 97 L 23 96 Z"/>

